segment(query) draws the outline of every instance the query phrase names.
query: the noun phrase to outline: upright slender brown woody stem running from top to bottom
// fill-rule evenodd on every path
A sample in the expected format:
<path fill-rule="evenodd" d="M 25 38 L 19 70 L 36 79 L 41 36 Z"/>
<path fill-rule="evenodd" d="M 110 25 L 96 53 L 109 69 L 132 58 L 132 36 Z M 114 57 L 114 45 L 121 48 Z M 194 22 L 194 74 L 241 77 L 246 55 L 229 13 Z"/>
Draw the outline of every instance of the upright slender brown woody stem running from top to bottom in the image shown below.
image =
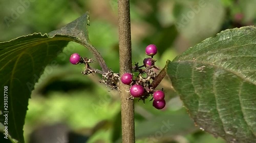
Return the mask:
<path fill-rule="evenodd" d="M 119 64 L 120 75 L 132 73 L 131 21 L 130 1 L 118 0 L 118 30 L 119 30 Z M 129 85 L 120 82 L 122 142 L 135 142 L 134 130 L 134 101 L 130 97 Z"/>

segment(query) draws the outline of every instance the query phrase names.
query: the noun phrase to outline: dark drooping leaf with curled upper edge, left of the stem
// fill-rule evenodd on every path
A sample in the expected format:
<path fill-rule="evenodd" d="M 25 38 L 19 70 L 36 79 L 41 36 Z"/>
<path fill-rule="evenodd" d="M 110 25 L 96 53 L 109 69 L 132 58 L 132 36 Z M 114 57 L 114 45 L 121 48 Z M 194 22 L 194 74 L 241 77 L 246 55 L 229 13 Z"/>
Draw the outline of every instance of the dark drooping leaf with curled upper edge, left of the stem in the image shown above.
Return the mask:
<path fill-rule="evenodd" d="M 4 97 L 0 100 L 0 111 L 4 115 L 8 114 L 8 133 L 12 138 L 24 142 L 23 125 L 34 84 L 44 70 L 50 74 L 53 68 L 59 66 L 54 58 L 62 52 L 62 48 L 69 41 L 87 45 L 97 56 L 96 59 L 101 58 L 98 51 L 89 44 L 86 27 L 88 24 L 89 16 L 86 13 L 60 30 L 49 34 L 34 33 L 0 43 L 0 87 L 2 93 L 6 89 L 8 95 L 5 101 Z M 50 64 L 49 68 L 45 69 L 48 64 Z M 41 79 L 45 78 L 41 77 Z M 7 101 L 8 108 L 4 106 Z M 1 118 L 0 121 L 4 124 L 5 117 L 1 116 Z"/>

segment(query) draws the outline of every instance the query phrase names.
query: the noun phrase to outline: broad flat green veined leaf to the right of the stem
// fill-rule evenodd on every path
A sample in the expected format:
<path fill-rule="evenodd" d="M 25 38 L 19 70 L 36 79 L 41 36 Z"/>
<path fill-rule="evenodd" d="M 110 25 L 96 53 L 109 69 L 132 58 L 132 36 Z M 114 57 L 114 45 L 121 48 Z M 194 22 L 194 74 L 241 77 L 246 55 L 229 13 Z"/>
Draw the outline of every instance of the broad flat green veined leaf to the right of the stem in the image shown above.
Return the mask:
<path fill-rule="evenodd" d="M 256 27 L 234 28 L 167 61 L 190 117 L 227 142 L 256 142 Z"/>

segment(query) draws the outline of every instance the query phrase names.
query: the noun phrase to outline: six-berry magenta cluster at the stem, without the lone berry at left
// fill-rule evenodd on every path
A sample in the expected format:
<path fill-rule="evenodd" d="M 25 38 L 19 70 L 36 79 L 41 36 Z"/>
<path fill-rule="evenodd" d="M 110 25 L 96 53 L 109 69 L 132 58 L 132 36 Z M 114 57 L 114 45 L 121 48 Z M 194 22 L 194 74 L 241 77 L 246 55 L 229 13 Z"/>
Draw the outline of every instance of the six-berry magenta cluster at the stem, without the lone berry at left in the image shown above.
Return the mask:
<path fill-rule="evenodd" d="M 148 45 L 145 49 L 145 53 L 151 56 L 151 58 L 145 58 L 142 66 L 138 66 L 137 63 L 135 67 L 133 67 L 133 71 L 139 72 L 138 76 L 133 79 L 133 74 L 124 73 L 121 76 L 121 81 L 123 84 L 132 85 L 130 89 L 132 98 L 140 98 L 145 101 L 150 95 L 153 95 L 151 99 L 154 99 L 153 106 L 157 109 L 162 109 L 165 107 L 164 92 L 162 90 L 155 91 L 155 89 L 152 89 L 150 86 L 151 79 L 154 80 L 156 78 L 156 73 L 152 69 L 155 68 L 159 70 L 159 68 L 155 66 L 156 60 L 153 59 L 153 56 L 157 53 L 157 46 L 154 44 Z M 141 69 L 143 67 L 146 69 Z M 146 77 L 143 76 L 145 73 Z"/>

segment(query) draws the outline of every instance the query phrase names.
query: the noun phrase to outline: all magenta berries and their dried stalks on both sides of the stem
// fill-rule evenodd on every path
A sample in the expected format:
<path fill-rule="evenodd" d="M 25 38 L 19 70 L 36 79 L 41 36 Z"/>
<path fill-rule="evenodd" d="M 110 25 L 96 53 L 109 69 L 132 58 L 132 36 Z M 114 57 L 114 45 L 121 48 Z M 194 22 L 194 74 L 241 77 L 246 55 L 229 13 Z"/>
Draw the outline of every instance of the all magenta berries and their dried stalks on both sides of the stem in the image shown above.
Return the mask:
<path fill-rule="evenodd" d="M 118 89 L 120 78 L 123 84 L 132 85 L 130 89 L 132 96 L 130 98 L 139 98 L 139 100 L 143 100 L 143 102 L 145 102 L 145 99 L 153 96 L 151 99 L 154 99 L 153 106 L 157 109 L 162 109 L 165 107 L 164 92 L 163 90 L 155 90 L 158 84 L 153 85 L 154 80 L 157 78 L 157 73 L 155 71 L 160 70 L 160 68 L 155 66 L 156 60 L 153 59 L 153 56 L 157 53 L 157 46 L 154 44 L 148 45 L 145 49 L 145 53 L 151 56 L 151 58 L 145 58 L 143 60 L 143 65 L 141 66 L 138 65 L 139 63 L 135 64 L 133 71 L 139 72 L 135 79 L 131 73 L 124 73 L 120 78 L 118 73 L 113 73 L 111 70 L 108 70 L 108 72 L 103 72 L 101 70 L 94 69 L 89 65 L 89 63 L 94 61 L 86 57 L 82 58 L 78 53 L 73 53 L 70 56 L 69 61 L 73 65 L 83 63 L 85 68 L 81 73 L 84 75 L 91 73 L 102 74 L 102 79 L 100 82 L 110 85 L 112 89 Z"/>

